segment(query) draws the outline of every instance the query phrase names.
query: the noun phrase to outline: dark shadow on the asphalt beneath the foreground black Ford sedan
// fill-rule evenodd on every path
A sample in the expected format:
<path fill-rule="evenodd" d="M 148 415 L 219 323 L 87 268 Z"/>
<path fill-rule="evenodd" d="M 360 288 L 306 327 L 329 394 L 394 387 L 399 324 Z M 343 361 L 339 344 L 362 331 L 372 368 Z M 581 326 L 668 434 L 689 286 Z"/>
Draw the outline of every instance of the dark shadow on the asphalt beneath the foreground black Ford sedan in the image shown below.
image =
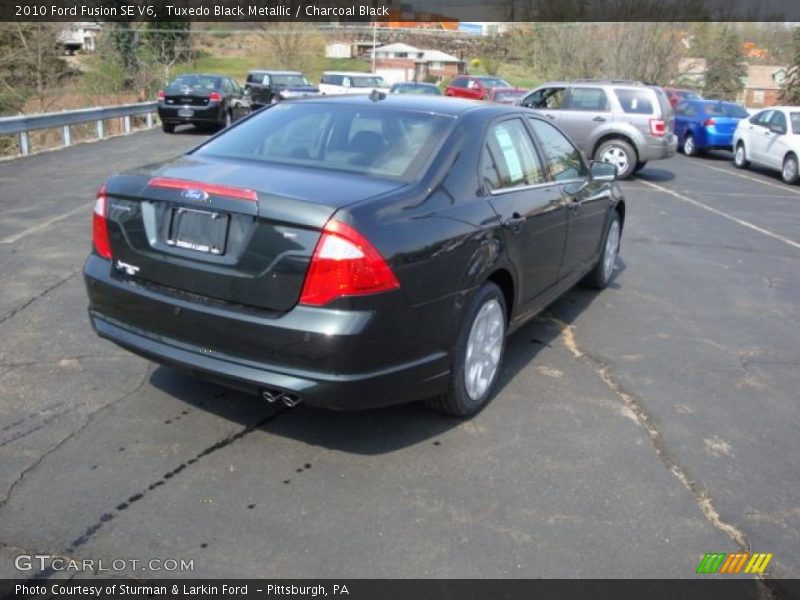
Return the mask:
<path fill-rule="evenodd" d="M 620 259 L 617 278 L 624 268 Z M 619 286 L 617 281 L 612 282 L 612 288 Z M 509 337 L 493 402 L 503 401 L 503 389 L 531 365 L 539 352 L 556 343 L 563 329 L 588 308 L 597 294 L 596 290 L 575 287 Z M 439 436 L 465 422 L 434 412 L 422 402 L 357 412 L 302 404 L 292 409 L 275 407 L 255 395 L 166 367 L 156 369 L 150 383 L 186 404 L 245 427 L 266 421 L 260 427 L 270 434 L 352 454 L 380 455 L 428 441 L 436 444 Z M 473 418 L 479 420 L 480 413 Z"/>

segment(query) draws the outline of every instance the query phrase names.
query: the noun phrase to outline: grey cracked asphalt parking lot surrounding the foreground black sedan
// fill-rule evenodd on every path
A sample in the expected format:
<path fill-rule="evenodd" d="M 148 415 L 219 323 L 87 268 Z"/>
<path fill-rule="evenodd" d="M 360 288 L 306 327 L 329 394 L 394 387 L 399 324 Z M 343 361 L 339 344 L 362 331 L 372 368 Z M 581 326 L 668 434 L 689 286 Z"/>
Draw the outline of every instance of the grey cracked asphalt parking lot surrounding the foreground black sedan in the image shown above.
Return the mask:
<path fill-rule="evenodd" d="M 0 576 L 38 553 L 194 564 L 137 576 L 683 578 L 746 548 L 800 577 L 800 187 L 725 154 L 622 183 L 615 282 L 516 333 L 472 420 L 276 410 L 86 316 L 96 188 L 201 139 L 0 163 Z"/>

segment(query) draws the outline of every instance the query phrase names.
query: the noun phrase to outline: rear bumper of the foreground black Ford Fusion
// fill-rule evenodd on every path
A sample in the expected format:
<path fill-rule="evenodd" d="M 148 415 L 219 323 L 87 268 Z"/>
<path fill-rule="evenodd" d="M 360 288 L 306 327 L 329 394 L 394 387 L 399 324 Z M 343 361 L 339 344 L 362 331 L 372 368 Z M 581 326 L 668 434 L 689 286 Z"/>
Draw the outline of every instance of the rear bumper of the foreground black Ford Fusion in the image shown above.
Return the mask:
<path fill-rule="evenodd" d="M 290 393 L 340 410 L 401 404 L 446 390 L 449 352 L 423 343 L 410 356 L 402 343 L 392 343 L 394 332 L 382 335 L 386 328 L 375 311 L 299 306 L 259 316 L 159 293 L 116 276 L 111 263 L 95 255 L 86 261 L 84 278 L 99 336 L 223 385 Z"/>

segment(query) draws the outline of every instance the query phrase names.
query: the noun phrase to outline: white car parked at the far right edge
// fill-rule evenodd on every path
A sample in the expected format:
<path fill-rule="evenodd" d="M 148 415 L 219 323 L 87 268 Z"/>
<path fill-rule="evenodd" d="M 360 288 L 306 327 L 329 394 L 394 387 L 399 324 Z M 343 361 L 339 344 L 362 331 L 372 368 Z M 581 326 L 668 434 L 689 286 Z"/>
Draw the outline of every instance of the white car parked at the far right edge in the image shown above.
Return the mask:
<path fill-rule="evenodd" d="M 781 172 L 786 183 L 800 181 L 800 106 L 773 106 L 742 119 L 733 134 L 733 163 Z"/>

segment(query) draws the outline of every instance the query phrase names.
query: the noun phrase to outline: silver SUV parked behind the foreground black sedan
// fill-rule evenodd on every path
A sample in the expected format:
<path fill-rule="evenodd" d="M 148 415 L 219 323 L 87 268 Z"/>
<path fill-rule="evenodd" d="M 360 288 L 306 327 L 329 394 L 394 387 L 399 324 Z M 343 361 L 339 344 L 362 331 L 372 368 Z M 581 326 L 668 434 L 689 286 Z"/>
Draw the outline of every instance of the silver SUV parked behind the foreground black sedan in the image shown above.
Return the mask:
<path fill-rule="evenodd" d="M 650 160 L 675 154 L 674 115 L 664 91 L 636 81 L 561 81 L 519 102 L 546 116 L 587 158 L 630 177 Z"/>

